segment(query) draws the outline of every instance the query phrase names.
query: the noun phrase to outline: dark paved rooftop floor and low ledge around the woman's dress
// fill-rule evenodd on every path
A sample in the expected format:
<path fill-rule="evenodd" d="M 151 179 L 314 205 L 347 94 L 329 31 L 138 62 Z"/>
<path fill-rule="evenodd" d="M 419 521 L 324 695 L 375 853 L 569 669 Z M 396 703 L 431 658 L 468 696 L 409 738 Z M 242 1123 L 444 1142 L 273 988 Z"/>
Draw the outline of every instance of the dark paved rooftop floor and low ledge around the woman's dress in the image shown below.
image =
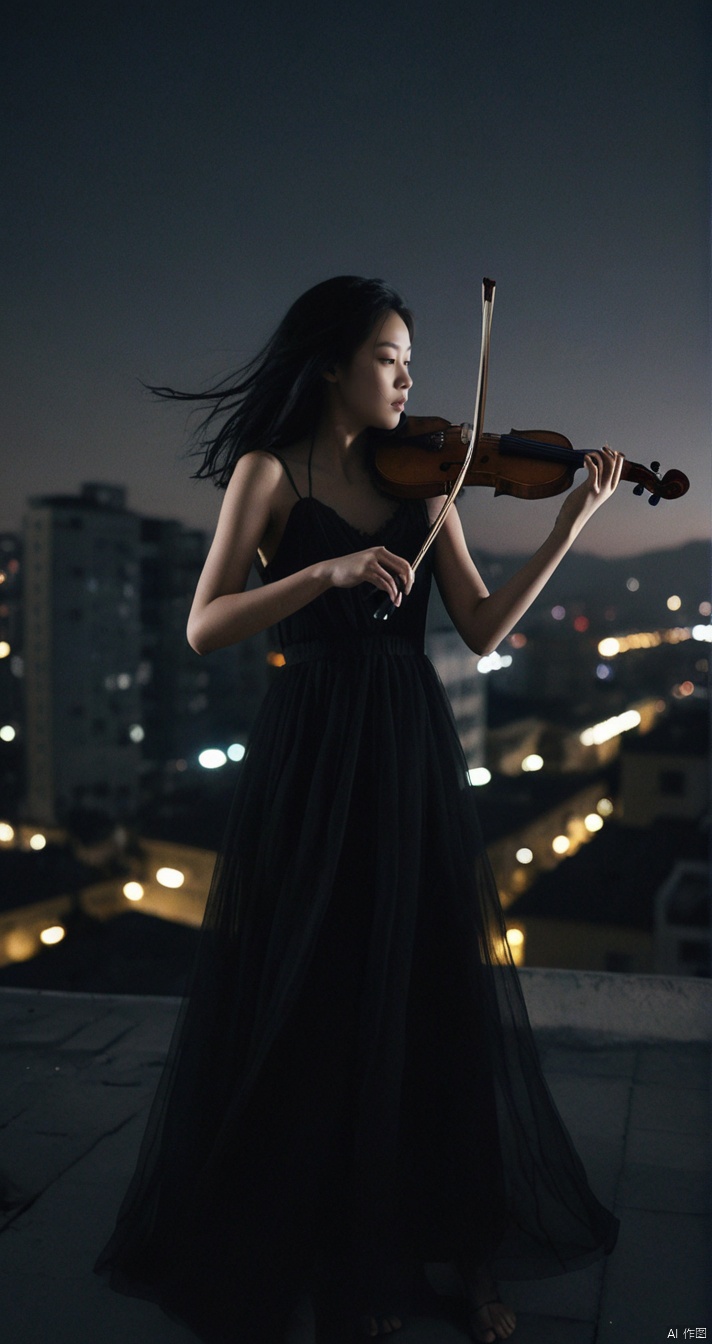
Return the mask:
<path fill-rule="evenodd" d="M 609 1261 L 505 1285 L 519 1312 L 515 1339 L 658 1344 L 689 1339 L 689 1328 L 712 1337 L 712 984 L 566 970 L 521 977 L 552 1093 L 594 1189 L 622 1226 Z M 176 1009 L 176 999 L 156 996 L 0 989 L 0 1282 L 12 1344 L 193 1341 L 156 1306 L 112 1293 L 91 1273 L 133 1169 Z M 442 1269 L 439 1286 L 447 1286 Z M 313 1339 L 305 1310 L 289 1344 Z M 451 1321 L 412 1318 L 403 1344 L 466 1339 L 453 1310 Z"/>

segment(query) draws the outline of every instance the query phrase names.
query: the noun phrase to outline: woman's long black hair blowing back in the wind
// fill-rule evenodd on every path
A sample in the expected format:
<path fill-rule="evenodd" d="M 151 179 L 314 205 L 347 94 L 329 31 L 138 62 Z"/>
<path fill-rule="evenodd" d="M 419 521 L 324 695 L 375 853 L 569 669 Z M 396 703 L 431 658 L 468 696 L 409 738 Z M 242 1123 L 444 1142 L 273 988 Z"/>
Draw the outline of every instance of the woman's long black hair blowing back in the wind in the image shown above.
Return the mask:
<path fill-rule="evenodd" d="M 274 336 L 234 376 L 204 392 L 150 387 L 157 396 L 210 407 L 189 450 L 203 458 L 193 477 L 208 476 L 224 489 L 243 453 L 285 448 L 313 434 L 324 403 L 322 374 L 348 364 L 388 312 L 403 319 L 412 340 L 412 313 L 395 289 L 382 280 L 335 276 L 297 298 Z"/>

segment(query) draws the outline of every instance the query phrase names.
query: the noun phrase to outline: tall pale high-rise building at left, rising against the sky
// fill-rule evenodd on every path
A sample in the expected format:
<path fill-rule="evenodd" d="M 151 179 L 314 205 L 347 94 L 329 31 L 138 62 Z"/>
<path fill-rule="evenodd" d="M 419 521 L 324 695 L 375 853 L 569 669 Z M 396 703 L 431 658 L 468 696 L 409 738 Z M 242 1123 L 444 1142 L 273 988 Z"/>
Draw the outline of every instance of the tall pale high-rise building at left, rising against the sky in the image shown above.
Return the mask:
<path fill-rule="evenodd" d="M 24 524 L 26 816 L 132 817 L 141 762 L 140 520 L 121 487 L 30 501 Z"/>

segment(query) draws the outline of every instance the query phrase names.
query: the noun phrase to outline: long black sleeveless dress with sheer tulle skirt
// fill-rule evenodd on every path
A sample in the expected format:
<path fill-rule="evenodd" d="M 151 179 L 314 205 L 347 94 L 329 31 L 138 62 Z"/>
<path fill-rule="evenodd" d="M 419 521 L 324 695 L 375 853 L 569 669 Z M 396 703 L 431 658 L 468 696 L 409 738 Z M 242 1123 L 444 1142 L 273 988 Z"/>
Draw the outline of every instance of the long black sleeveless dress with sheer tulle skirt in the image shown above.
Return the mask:
<path fill-rule="evenodd" d="M 383 540 L 300 497 L 266 582 Z M 449 702 L 427 560 L 387 622 L 333 589 L 282 622 L 192 981 L 97 1270 L 200 1339 L 281 1344 L 298 1294 L 407 1313 L 427 1262 L 588 1265 L 617 1220 L 541 1075 Z"/>

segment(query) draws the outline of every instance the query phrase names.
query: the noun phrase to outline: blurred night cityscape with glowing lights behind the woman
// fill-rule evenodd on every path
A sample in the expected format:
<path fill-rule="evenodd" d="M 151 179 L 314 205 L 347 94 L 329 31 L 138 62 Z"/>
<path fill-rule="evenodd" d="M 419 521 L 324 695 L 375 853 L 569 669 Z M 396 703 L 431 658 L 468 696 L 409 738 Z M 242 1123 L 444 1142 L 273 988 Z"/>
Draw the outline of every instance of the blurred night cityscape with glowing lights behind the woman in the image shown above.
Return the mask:
<path fill-rule="evenodd" d="M 0 984 L 180 993 L 274 636 L 185 638 L 208 539 L 122 487 L 0 534 Z M 521 563 L 477 555 L 490 589 Z M 568 555 L 450 696 L 527 966 L 709 976 L 709 547 Z M 314 724 L 314 731 L 318 726 Z"/>

